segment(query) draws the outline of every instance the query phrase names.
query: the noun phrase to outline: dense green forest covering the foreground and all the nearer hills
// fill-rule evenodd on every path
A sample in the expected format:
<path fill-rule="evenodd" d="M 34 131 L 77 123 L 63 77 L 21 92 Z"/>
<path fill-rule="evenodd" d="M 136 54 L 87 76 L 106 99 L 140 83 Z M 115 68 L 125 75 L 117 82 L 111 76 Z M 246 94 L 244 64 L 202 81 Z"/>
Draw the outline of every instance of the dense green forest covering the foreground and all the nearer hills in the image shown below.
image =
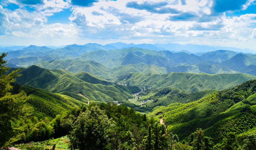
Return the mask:
<path fill-rule="evenodd" d="M 66 149 L 256 149 L 256 80 L 229 89 L 203 88 L 195 92 L 153 86 L 139 95 L 154 100 L 149 106 L 136 108 L 127 102 L 114 104 L 113 100 L 119 98 L 109 95 L 111 92 L 105 94 L 112 101 L 91 100 L 79 95 L 79 86 L 70 84 L 102 93 L 112 90 L 125 99 L 140 90 L 136 86 L 120 86 L 85 72 L 72 74 L 36 66 L 11 69 L 3 60 L 5 56 L 0 56 L 1 147 L 58 149 L 59 145 L 47 145 L 46 141 L 66 136 Z M 51 78 L 42 80 L 44 76 Z M 51 83 L 62 82 L 70 83 L 62 86 L 72 90 L 60 86 L 52 90 Z M 140 108 L 145 113 L 136 111 Z M 40 142 L 44 144 L 36 144 Z"/>

